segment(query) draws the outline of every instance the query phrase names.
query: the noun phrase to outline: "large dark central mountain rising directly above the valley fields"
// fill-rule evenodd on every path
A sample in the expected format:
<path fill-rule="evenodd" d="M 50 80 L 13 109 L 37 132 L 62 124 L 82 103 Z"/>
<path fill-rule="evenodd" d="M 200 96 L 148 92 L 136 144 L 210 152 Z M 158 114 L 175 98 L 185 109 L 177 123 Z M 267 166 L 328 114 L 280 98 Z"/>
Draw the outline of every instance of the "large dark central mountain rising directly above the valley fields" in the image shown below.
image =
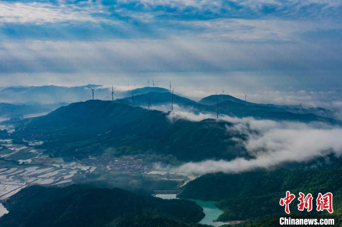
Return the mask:
<path fill-rule="evenodd" d="M 171 154 L 179 160 L 232 159 L 246 154 L 227 132 L 230 123 L 216 120 L 171 122 L 168 113 L 111 101 L 73 103 L 31 122 L 13 136 L 44 140 L 56 156 L 84 158 L 103 151 Z"/>

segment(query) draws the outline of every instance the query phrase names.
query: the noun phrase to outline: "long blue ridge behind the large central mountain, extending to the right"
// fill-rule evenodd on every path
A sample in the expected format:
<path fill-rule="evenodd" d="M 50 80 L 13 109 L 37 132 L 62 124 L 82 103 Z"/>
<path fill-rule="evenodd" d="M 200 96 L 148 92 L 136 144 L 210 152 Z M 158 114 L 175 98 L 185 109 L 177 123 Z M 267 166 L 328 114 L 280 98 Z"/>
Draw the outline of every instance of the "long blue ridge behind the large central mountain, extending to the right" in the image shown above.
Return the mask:
<path fill-rule="evenodd" d="M 133 100 L 134 105 L 146 108 L 148 106 L 150 99 L 150 105 L 152 107 L 163 105 L 171 111 L 171 96 L 172 94 L 169 92 L 150 92 L 144 95 L 134 95 L 133 99 L 132 97 L 117 99 L 115 100 L 115 102 L 132 105 Z M 296 110 L 286 108 L 285 106 L 277 107 L 276 105 L 256 104 L 251 102 L 245 102 L 230 95 L 217 95 L 217 97 L 219 102 L 219 114 L 226 114 L 229 116 L 236 117 L 252 116 L 257 119 L 291 120 L 301 122 L 323 121 L 328 123 L 336 123 L 336 121 L 332 118 L 323 117 L 311 113 L 311 111 L 316 113 L 316 110 L 313 109 L 311 109 L 311 111 L 310 109 Z M 201 112 L 216 114 L 216 95 L 208 96 L 200 100 L 199 102 L 195 102 L 189 98 L 185 98 L 179 95 L 173 95 L 173 104 L 185 108 L 193 113 Z M 318 111 L 319 109 L 317 109 L 317 112 Z M 327 115 L 329 113 L 329 110 L 321 108 L 321 112 L 326 113 L 323 115 Z"/>

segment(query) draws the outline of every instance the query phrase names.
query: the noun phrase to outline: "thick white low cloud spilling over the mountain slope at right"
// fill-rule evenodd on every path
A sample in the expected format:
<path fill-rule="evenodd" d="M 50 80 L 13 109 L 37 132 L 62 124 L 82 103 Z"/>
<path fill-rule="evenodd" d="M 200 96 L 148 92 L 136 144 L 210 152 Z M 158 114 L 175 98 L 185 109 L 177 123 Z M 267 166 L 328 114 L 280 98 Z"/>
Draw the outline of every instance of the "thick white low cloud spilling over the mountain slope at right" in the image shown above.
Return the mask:
<path fill-rule="evenodd" d="M 331 153 L 336 156 L 342 154 L 340 127 L 322 123 L 259 121 L 253 118 L 235 118 L 233 121 L 234 127 L 227 130 L 237 130 L 249 135 L 244 146 L 252 158 L 190 162 L 174 171 L 192 174 L 242 172 L 271 168 L 287 162 L 307 162 Z M 257 130 L 258 133 L 251 133 L 248 129 Z"/>

